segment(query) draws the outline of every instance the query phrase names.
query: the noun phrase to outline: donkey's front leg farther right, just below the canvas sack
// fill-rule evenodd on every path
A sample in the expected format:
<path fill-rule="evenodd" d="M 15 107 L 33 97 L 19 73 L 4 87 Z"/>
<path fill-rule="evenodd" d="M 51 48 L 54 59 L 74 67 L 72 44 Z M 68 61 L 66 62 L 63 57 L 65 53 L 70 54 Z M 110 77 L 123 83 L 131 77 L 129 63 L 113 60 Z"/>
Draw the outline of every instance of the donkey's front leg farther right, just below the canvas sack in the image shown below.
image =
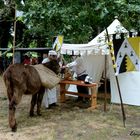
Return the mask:
<path fill-rule="evenodd" d="M 41 87 L 39 92 L 38 92 L 38 98 L 37 98 L 37 115 L 41 115 L 41 103 L 42 103 L 42 99 L 43 99 L 43 96 L 44 96 L 44 92 L 45 92 L 45 88 L 44 87 Z"/>

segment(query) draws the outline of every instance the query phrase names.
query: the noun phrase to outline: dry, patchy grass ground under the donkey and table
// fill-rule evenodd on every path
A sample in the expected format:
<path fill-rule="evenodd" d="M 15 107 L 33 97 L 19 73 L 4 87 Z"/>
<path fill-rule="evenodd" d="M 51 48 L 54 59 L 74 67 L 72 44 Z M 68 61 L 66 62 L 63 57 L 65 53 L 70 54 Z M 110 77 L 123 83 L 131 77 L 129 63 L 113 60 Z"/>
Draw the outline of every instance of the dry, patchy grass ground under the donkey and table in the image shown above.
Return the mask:
<path fill-rule="evenodd" d="M 16 110 L 18 130 L 11 132 L 8 125 L 8 100 L 0 92 L 0 140 L 139 140 L 140 107 L 125 105 L 126 127 L 122 122 L 120 105 L 103 100 L 98 108 L 87 110 L 88 103 L 77 104 L 73 97 L 52 109 L 42 107 L 42 116 L 28 115 L 30 96 L 23 96 Z"/>

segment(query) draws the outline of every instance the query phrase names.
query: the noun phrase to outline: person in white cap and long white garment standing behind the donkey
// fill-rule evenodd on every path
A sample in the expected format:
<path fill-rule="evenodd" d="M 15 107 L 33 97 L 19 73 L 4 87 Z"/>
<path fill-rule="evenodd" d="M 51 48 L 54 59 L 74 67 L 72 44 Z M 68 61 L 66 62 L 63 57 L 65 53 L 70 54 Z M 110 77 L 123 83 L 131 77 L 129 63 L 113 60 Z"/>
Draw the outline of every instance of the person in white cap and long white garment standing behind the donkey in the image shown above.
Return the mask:
<path fill-rule="evenodd" d="M 46 55 L 42 61 L 42 64 L 49 62 L 50 60 L 57 60 L 57 53 L 53 50 L 49 51 L 48 56 Z M 57 91 L 56 87 L 52 89 L 45 89 L 45 94 L 42 101 L 46 108 L 57 106 Z"/>

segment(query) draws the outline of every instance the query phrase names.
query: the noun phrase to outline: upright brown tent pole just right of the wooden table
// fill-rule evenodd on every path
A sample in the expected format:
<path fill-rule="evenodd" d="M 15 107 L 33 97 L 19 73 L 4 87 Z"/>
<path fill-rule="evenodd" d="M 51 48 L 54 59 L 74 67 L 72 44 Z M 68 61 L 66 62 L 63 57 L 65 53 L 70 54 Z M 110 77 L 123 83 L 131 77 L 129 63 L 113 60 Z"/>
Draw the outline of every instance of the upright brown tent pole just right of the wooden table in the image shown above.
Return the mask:
<path fill-rule="evenodd" d="M 106 63 L 107 63 L 107 55 L 105 55 L 105 93 L 104 93 L 104 111 L 106 112 L 106 103 L 107 103 L 107 78 L 106 78 Z"/>

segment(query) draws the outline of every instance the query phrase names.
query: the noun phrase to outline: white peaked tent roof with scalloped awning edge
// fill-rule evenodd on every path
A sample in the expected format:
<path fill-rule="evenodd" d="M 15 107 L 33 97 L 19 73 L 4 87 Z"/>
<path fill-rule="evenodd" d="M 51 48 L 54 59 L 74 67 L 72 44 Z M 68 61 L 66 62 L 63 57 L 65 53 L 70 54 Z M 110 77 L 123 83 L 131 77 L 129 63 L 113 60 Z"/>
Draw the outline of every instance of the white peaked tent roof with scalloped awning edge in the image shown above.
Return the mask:
<path fill-rule="evenodd" d="M 118 19 L 115 19 L 108 27 L 108 34 L 116 34 L 116 33 L 128 33 L 128 31 L 121 25 Z M 109 54 L 108 47 L 105 41 L 106 30 L 101 32 L 97 37 L 91 40 L 87 44 L 66 44 L 63 43 L 61 48 L 61 54 L 85 54 L 85 53 L 93 53 L 93 54 Z"/>

